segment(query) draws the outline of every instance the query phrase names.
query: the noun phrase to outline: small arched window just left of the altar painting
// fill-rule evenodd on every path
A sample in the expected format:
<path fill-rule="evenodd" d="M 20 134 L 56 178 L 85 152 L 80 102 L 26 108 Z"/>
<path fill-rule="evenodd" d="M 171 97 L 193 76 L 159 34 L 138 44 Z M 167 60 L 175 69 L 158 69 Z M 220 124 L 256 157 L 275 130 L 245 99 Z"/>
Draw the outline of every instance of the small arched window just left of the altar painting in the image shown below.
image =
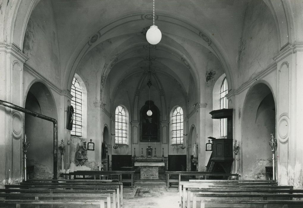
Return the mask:
<path fill-rule="evenodd" d="M 126 144 L 127 114 L 122 106 L 118 106 L 115 112 L 115 143 Z"/>

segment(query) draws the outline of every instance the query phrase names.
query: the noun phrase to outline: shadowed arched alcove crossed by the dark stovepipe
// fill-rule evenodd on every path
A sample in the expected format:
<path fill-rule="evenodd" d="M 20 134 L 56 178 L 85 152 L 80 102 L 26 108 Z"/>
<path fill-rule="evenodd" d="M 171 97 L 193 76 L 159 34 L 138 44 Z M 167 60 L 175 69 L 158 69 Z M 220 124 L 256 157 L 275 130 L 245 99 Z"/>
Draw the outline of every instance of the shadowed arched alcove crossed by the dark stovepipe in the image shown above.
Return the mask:
<path fill-rule="evenodd" d="M 58 119 L 52 93 L 42 82 L 30 87 L 25 108 Z M 30 146 L 27 150 L 27 166 L 33 167 L 29 178 L 53 177 L 53 124 L 50 121 L 25 114 L 25 133 Z M 29 169 L 28 169 L 29 170 Z"/>

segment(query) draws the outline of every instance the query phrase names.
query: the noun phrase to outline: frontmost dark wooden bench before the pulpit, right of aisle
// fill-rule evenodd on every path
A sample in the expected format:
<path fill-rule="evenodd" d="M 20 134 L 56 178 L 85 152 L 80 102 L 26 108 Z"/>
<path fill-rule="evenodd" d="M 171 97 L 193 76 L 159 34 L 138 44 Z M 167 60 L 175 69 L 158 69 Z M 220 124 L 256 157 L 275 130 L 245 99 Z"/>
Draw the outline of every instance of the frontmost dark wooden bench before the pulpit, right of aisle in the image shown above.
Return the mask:
<path fill-rule="evenodd" d="M 234 173 L 210 173 L 210 172 L 201 172 L 201 171 L 165 171 L 166 174 L 166 187 L 169 189 L 171 183 L 178 184 L 181 181 L 181 176 L 189 176 L 189 177 L 199 177 L 203 176 L 205 180 L 207 180 L 207 177 L 235 177 L 236 180 L 238 180 L 239 175 Z M 178 179 L 172 179 L 171 176 L 178 175 Z M 179 189 L 178 189 L 179 190 Z"/>

